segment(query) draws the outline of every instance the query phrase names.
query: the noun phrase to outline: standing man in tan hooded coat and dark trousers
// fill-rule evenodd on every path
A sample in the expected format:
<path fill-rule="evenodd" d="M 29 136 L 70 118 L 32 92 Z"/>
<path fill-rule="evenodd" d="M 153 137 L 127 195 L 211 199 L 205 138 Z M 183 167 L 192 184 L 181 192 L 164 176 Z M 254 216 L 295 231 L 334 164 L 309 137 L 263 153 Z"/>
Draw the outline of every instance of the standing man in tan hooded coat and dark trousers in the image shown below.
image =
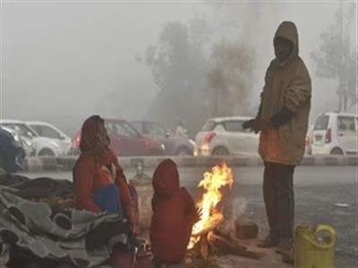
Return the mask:
<path fill-rule="evenodd" d="M 291 251 L 294 239 L 294 168 L 304 154 L 311 108 L 311 78 L 298 55 L 293 22 L 283 21 L 275 34 L 276 58 L 268 66 L 259 113 L 243 128 L 260 131 L 259 153 L 265 163 L 263 196 L 269 233 L 259 247 Z"/>

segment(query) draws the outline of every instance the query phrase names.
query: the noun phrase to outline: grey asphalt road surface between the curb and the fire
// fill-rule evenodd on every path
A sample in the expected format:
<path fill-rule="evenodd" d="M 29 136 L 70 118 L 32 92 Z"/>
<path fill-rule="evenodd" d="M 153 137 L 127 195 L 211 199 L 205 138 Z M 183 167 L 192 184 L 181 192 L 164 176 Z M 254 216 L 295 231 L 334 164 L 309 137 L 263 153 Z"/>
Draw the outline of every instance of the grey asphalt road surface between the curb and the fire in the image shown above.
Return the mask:
<path fill-rule="evenodd" d="M 180 168 L 181 184 L 192 196 L 200 197 L 196 185 L 205 168 Z M 151 176 L 153 170 L 145 170 Z M 266 214 L 261 195 L 262 167 L 234 169 L 232 202 L 226 208 L 233 219 L 251 219 L 267 232 Z M 125 171 L 132 178 L 135 171 Z M 24 173 L 30 178 L 47 176 L 72 180 L 71 172 Z M 311 225 L 326 223 L 337 231 L 337 267 L 358 267 L 358 168 L 356 166 L 302 166 L 294 174 L 295 222 Z M 346 204 L 346 207 L 337 204 Z"/>

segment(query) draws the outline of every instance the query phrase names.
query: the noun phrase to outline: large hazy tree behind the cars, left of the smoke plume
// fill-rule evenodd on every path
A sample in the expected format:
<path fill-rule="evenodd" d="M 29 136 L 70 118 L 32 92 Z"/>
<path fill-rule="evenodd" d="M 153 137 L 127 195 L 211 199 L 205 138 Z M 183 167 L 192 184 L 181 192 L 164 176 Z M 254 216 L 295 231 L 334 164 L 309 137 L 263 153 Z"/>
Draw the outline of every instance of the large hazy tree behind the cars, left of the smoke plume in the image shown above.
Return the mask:
<path fill-rule="evenodd" d="M 149 46 L 146 51 L 146 63 L 159 88 L 158 97 L 149 111 L 150 116 L 171 127 L 176 121 L 183 120 L 192 132 L 208 114 L 203 89 L 203 42 L 198 35 L 192 34 L 194 29 L 205 28 L 205 25 L 193 25 L 188 27 L 177 21 L 167 22 L 160 33 L 158 45 Z"/>

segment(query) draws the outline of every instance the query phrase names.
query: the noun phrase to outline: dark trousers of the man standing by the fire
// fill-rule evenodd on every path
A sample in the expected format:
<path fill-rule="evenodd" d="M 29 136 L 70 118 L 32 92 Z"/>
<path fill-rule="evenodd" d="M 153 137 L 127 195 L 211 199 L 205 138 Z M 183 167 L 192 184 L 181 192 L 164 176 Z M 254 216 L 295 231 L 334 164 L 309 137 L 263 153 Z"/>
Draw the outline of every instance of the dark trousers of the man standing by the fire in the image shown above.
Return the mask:
<path fill-rule="evenodd" d="M 294 167 L 265 162 L 263 197 L 272 238 L 294 237 Z"/>

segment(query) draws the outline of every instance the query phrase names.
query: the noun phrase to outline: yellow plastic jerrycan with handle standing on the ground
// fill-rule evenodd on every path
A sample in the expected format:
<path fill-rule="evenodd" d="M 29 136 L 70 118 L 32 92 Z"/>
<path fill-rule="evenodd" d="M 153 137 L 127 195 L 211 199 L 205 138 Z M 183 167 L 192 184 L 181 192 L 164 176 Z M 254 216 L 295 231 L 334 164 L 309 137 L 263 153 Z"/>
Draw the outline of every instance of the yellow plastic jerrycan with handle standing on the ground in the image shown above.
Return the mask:
<path fill-rule="evenodd" d="M 297 225 L 294 229 L 294 267 L 335 267 L 335 244 L 336 231 L 332 227 Z"/>

